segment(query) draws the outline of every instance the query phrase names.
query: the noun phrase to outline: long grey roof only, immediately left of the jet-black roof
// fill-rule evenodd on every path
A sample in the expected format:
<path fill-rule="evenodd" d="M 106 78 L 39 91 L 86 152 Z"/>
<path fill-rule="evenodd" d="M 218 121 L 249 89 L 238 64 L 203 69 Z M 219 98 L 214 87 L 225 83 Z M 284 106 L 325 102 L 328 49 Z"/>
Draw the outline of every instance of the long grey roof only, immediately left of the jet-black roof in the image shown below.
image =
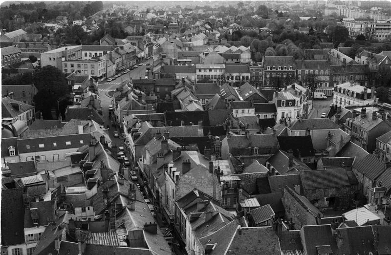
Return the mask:
<path fill-rule="evenodd" d="M 227 138 L 230 149 L 254 148 L 254 147 L 279 147 L 278 140 L 274 134 L 254 134 L 247 138 L 245 135 L 235 135 Z"/>

